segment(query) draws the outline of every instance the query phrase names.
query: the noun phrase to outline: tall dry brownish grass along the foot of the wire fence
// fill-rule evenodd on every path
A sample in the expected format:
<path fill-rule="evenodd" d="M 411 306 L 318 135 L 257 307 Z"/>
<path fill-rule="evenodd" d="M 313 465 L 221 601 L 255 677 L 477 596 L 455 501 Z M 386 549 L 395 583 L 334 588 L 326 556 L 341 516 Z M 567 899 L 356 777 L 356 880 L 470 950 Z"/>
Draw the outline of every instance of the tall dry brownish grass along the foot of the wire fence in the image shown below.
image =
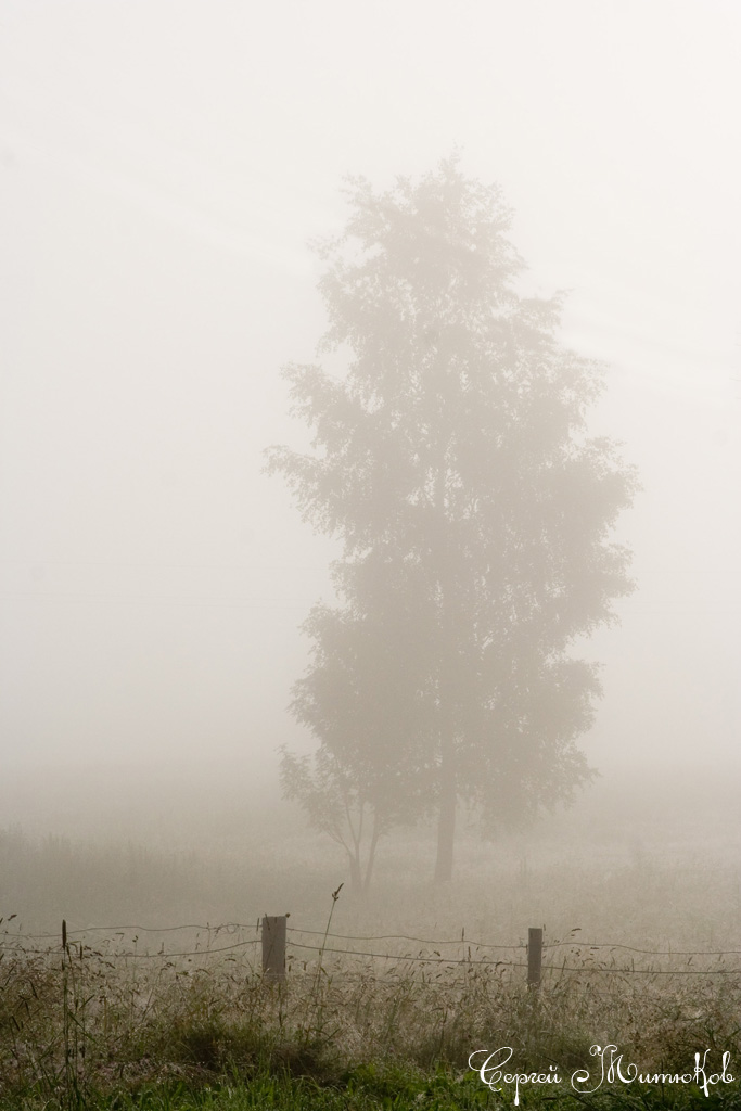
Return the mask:
<path fill-rule="evenodd" d="M 241 954 L 203 950 L 140 960 L 68 942 L 6 947 L 0 961 L 0 1091 L 69 1111 L 91 1093 L 181 1081 L 302 1077 L 341 1084 L 358 1070 L 464 1075 L 478 1049 L 512 1047 L 518 1064 L 589 1067 L 618 1044 L 645 1069 L 685 1070 L 697 1051 L 741 1055 L 741 977 L 619 971 L 574 947 L 528 991 L 521 969 L 408 957 L 307 962 L 267 981 Z M 422 955 L 421 953 L 418 955 Z M 429 950 L 424 951 L 429 957 Z M 718 965 L 714 965 L 718 968 Z M 569 971 L 578 969 L 578 971 Z M 664 970 L 665 971 L 665 970 Z"/>

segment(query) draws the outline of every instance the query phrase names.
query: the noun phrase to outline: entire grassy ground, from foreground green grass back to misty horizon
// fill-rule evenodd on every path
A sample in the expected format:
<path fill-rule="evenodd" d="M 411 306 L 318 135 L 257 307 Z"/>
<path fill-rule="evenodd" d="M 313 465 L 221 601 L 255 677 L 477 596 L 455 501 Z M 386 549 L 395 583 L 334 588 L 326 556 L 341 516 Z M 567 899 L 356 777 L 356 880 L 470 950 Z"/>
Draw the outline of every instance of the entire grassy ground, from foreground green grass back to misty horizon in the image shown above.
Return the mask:
<path fill-rule="evenodd" d="M 445 889 L 413 831 L 385 847 L 370 897 L 337 902 L 341 853 L 288 811 L 280 838 L 253 810 L 230 843 L 177 850 L 7 829 L 0 1108 L 511 1107 L 514 1083 L 493 1094 L 468 1067 L 503 1047 L 514 1071 L 559 1075 L 522 1084 L 523 1107 L 740 1107 L 738 1083 L 627 1082 L 631 1063 L 687 1074 L 705 1051 L 708 1072 L 723 1053 L 741 1070 L 727 791 L 605 787 L 494 845 L 464 831 Z M 281 984 L 262 977 L 258 924 L 286 912 Z M 529 990 L 534 925 L 543 979 Z M 589 1093 L 594 1044 L 618 1047 L 625 1079 Z M 592 1080 L 574 1091 L 580 1069 Z"/>

